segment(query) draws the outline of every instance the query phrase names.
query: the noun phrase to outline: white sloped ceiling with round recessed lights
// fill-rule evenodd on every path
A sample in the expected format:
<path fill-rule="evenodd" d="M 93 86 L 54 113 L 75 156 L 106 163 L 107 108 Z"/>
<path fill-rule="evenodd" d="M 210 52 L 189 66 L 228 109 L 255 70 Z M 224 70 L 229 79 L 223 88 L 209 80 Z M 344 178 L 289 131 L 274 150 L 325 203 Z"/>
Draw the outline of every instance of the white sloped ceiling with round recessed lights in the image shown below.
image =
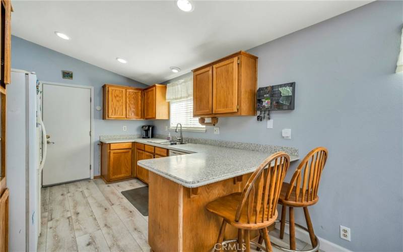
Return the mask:
<path fill-rule="evenodd" d="M 185 13 L 173 0 L 13 1 L 12 33 L 150 85 L 369 2 L 196 1 Z"/>

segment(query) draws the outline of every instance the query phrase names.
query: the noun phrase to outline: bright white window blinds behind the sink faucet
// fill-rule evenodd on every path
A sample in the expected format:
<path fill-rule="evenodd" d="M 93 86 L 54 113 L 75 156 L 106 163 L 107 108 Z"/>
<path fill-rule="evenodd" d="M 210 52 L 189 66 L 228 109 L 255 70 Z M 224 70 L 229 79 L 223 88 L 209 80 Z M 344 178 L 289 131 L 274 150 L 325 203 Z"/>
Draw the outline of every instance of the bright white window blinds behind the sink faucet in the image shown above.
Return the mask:
<path fill-rule="evenodd" d="M 198 118 L 193 117 L 193 99 L 184 99 L 170 102 L 171 124 L 170 128 L 175 129 L 176 124 L 182 124 L 182 130 L 206 132 L 206 126 L 198 123 Z"/>

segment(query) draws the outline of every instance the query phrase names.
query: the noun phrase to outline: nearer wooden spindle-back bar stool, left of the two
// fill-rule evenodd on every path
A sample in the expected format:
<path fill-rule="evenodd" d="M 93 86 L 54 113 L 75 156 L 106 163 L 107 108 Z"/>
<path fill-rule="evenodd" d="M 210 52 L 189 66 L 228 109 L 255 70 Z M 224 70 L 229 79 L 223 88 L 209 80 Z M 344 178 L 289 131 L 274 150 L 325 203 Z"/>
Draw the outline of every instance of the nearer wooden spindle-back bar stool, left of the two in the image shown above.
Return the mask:
<path fill-rule="evenodd" d="M 234 240 L 238 243 L 238 250 L 242 250 L 243 242 L 246 251 L 250 251 L 250 243 L 264 248 L 256 242 L 250 242 L 249 231 L 259 230 L 266 245 L 265 250 L 273 251 L 267 227 L 277 219 L 277 203 L 289 165 L 290 156 L 285 152 L 277 152 L 257 167 L 246 182 L 242 194 L 230 194 L 206 206 L 207 210 L 223 218 L 217 243 L 223 243 L 226 225 L 230 224 L 238 229 L 238 239 Z"/>

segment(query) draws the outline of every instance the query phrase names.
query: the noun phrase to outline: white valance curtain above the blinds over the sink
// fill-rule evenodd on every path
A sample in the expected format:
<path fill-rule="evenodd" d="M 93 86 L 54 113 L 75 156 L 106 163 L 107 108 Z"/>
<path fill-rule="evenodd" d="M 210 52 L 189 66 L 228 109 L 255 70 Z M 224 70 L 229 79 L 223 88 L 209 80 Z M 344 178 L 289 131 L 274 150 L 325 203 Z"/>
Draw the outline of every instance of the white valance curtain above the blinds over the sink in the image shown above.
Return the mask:
<path fill-rule="evenodd" d="M 193 98 L 193 77 L 167 84 L 167 101 Z"/>

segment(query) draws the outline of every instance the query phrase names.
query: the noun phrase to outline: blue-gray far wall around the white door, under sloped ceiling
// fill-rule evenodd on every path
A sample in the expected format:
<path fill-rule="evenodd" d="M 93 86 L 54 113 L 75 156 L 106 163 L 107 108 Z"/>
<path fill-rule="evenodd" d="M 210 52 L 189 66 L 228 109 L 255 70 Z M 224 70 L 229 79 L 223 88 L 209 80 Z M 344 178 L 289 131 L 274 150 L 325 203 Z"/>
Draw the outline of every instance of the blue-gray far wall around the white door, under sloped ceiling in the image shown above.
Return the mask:
<path fill-rule="evenodd" d="M 36 72 L 38 80 L 58 83 L 69 83 L 94 87 L 94 108 L 102 107 L 102 86 L 105 83 L 114 83 L 124 86 L 148 87 L 147 85 L 133 81 L 121 75 L 98 68 L 79 59 L 70 57 L 60 52 L 29 42 L 22 38 L 12 36 L 11 38 L 11 66 L 14 69 L 21 69 Z M 61 71 L 73 72 L 73 80 L 62 79 Z M 94 109 L 94 175 L 100 174 L 99 147 L 100 135 L 126 135 L 140 133 L 140 127 L 148 124 L 144 120 L 102 120 L 102 110 Z M 127 131 L 123 131 L 123 125 Z"/>

